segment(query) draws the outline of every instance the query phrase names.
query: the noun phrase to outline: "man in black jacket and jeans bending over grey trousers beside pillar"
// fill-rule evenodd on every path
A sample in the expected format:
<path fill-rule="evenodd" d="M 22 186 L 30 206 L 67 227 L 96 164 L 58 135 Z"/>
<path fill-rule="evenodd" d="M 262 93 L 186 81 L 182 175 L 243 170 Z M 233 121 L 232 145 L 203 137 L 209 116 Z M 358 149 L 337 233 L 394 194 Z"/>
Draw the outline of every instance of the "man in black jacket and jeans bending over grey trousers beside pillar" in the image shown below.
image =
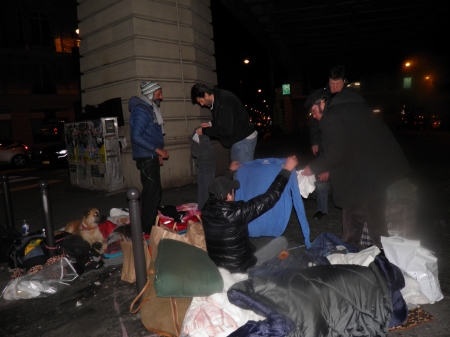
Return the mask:
<path fill-rule="evenodd" d="M 253 160 L 258 132 L 239 98 L 233 93 L 196 83 L 191 89 L 192 104 L 211 110 L 212 121 L 201 123 L 199 135 L 219 139 L 225 147 L 231 147 L 231 160 L 245 163 Z"/>

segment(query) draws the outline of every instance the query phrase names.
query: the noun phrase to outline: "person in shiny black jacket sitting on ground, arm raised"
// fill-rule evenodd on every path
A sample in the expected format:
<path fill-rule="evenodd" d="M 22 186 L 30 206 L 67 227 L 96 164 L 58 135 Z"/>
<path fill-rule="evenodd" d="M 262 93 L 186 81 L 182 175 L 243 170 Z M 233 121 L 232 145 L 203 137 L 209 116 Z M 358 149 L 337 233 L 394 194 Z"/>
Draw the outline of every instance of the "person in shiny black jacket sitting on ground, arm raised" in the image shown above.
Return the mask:
<path fill-rule="evenodd" d="M 228 174 L 217 177 L 211 183 L 210 197 L 202 208 L 202 221 L 209 257 L 218 267 L 231 273 L 246 273 L 248 268 L 261 263 L 254 254 L 255 247 L 250 243 L 248 224 L 278 202 L 297 164 L 295 156 L 288 157 L 269 189 L 247 202 L 235 201 L 234 192 L 240 184 L 232 176 L 240 166 L 238 162 L 232 162 Z M 267 254 L 267 246 L 270 246 L 273 256 Z M 266 249 L 261 248 L 258 252 L 264 251 L 264 254 L 259 256 L 264 255 L 269 260 L 286 246 L 287 241 L 281 236 L 269 242 Z"/>

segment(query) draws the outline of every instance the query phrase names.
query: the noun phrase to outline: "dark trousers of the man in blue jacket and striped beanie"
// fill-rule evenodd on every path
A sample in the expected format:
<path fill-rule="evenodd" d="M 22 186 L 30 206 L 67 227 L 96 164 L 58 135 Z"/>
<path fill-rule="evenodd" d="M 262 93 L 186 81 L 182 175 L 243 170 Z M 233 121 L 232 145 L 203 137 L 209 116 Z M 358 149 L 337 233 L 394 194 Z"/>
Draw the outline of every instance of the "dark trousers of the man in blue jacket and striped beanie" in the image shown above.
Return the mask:
<path fill-rule="evenodd" d="M 141 223 L 142 231 L 150 233 L 158 215 L 158 206 L 161 202 L 162 188 L 159 158 L 143 158 L 136 160 L 136 167 L 141 173 Z"/>

